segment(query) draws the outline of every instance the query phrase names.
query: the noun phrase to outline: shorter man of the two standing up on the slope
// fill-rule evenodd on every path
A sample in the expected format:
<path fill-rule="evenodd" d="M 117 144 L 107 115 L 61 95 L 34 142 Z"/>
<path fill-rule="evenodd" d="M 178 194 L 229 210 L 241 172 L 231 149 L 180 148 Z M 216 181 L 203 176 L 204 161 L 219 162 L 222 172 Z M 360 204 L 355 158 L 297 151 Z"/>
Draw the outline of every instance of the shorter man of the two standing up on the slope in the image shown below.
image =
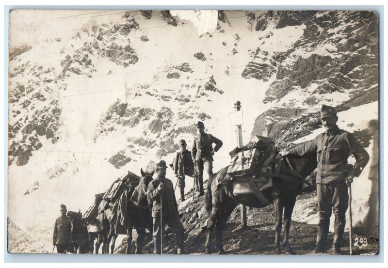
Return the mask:
<path fill-rule="evenodd" d="M 176 154 L 173 161 L 173 169 L 175 176 L 178 179 L 178 187 L 180 189 L 180 200 L 185 200 L 185 176 L 194 177 L 194 162 L 191 157 L 191 152 L 187 150 L 185 140 L 179 141 L 179 152 Z M 195 178 L 194 178 L 195 179 Z"/>

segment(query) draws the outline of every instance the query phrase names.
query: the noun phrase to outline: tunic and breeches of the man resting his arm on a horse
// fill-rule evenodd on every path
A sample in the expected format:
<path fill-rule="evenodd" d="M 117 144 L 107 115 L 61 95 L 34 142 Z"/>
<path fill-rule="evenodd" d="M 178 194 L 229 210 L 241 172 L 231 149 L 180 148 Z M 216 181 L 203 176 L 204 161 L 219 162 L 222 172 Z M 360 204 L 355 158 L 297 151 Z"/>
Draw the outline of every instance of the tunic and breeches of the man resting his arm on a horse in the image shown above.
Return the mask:
<path fill-rule="evenodd" d="M 348 208 L 348 188 L 344 179 L 350 173 L 358 177 L 369 160 L 362 145 L 352 134 L 336 127 L 319 134 L 312 141 L 291 148 L 289 153 L 297 156 L 316 154 L 319 224 L 328 221 L 333 209 L 337 222 L 344 225 Z M 348 165 L 350 153 L 356 158 L 353 169 Z"/>

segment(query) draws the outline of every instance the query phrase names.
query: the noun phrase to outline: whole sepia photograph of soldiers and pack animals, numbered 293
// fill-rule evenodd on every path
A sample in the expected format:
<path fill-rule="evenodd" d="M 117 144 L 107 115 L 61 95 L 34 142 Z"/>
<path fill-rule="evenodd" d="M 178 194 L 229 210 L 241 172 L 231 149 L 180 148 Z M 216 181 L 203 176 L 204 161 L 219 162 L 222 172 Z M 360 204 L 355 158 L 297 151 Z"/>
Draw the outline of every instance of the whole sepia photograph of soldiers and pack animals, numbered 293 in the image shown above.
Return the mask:
<path fill-rule="evenodd" d="M 379 254 L 379 15 L 14 9 L 7 251 Z"/>

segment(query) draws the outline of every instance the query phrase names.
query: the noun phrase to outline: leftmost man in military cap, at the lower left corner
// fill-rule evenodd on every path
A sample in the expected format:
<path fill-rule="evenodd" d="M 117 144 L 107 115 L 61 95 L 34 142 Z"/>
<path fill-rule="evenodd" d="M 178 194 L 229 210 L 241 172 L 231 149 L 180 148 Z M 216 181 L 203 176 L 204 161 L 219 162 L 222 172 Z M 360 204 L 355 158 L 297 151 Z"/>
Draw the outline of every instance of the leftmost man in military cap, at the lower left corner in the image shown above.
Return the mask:
<path fill-rule="evenodd" d="M 66 253 L 70 246 L 73 234 L 73 222 L 70 217 L 66 216 L 66 206 L 60 206 L 61 217 L 55 220 L 54 231 L 52 234 L 52 244 L 57 246 L 58 253 Z"/>

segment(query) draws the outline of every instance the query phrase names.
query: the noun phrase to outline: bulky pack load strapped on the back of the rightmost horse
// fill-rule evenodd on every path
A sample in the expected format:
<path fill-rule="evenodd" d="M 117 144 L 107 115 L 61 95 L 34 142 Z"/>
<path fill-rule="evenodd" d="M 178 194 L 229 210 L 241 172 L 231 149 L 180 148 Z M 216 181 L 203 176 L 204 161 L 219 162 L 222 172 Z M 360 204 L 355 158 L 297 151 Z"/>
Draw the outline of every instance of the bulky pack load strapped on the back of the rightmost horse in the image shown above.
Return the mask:
<path fill-rule="evenodd" d="M 275 142 L 268 137 L 254 136 L 244 147 L 236 147 L 229 153 L 232 161 L 223 181 L 233 181 L 233 194 L 254 193 L 261 199 L 260 191 L 272 187 L 275 172 Z M 220 179 L 217 177 L 217 179 Z"/>

